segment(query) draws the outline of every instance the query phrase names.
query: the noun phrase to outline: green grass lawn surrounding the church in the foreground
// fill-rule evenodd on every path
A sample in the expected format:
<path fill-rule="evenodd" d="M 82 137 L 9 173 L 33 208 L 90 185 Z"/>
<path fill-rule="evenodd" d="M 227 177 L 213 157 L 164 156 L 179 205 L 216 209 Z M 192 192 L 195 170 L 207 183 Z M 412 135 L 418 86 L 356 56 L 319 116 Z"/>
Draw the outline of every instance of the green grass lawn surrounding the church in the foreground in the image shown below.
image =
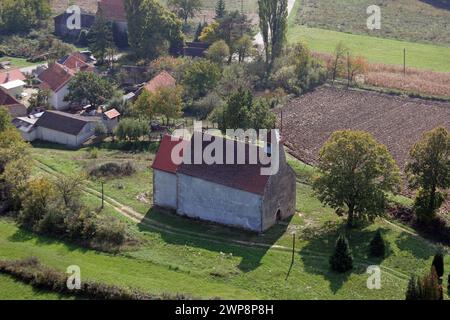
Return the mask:
<path fill-rule="evenodd" d="M 85 149 L 67 151 L 50 146 L 34 149 L 34 156 L 40 161 L 65 173 L 78 172 L 83 162 L 80 159 L 87 154 Z M 0 259 L 36 256 L 61 271 L 69 265 L 79 265 L 84 279 L 159 294 L 235 299 L 403 299 L 409 275 L 429 269 L 436 249 L 434 245 L 406 229 L 378 220 L 348 235 L 355 255 L 354 270 L 347 274 L 331 272 L 328 257 L 342 231 L 343 221 L 314 197 L 308 182 L 314 169 L 294 159 L 290 159 L 290 163 L 298 174 L 298 213 L 291 221 L 263 235 L 158 212 L 151 210 L 151 204 L 141 204 L 141 208 L 137 208 L 136 195 L 140 190 L 152 188 L 151 180 L 148 181 L 151 170 L 141 165 L 141 161 L 147 162 L 152 155 L 152 152 L 101 149 L 95 160 L 137 162 L 138 172 L 123 182 L 128 186 L 135 181 L 134 189 L 125 188 L 108 195 L 136 207 L 139 212 L 146 209 L 144 223 L 122 218 L 127 221 L 129 232 L 140 238 L 139 246 L 116 255 L 106 254 L 38 237 L 20 230 L 9 220 L 0 219 Z M 47 174 L 42 168 L 38 167 L 35 174 Z M 146 178 L 141 180 L 141 175 Z M 120 180 L 115 179 L 114 183 Z M 83 197 L 90 205 L 99 205 L 97 197 L 86 194 Z M 103 214 L 119 216 L 109 206 Z M 383 261 L 367 257 L 367 244 L 378 228 L 389 242 L 389 254 Z M 296 233 L 297 241 L 295 261 L 290 268 L 292 232 Z M 449 270 L 448 257 L 445 262 Z M 369 276 L 366 268 L 374 264 L 381 266 L 381 290 L 369 290 L 366 286 Z M 33 294 L 42 298 L 41 293 Z M 14 293 L 9 293 L 9 298 L 11 295 Z M 21 293 L 17 292 L 14 297 L 21 298 Z M 0 292 L 0 298 L 6 298 L 6 294 Z"/>

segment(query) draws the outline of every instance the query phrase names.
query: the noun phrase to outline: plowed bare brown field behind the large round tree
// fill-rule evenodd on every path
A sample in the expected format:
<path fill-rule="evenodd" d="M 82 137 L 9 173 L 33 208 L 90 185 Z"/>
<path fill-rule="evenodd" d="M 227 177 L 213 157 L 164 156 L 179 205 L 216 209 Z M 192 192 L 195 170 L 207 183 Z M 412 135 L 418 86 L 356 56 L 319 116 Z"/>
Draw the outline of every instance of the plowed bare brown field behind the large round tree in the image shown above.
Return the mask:
<path fill-rule="evenodd" d="M 404 168 L 411 146 L 428 130 L 450 130 L 450 103 L 323 86 L 283 110 L 286 146 L 314 164 L 319 150 L 337 130 L 363 130 L 385 144 Z"/>

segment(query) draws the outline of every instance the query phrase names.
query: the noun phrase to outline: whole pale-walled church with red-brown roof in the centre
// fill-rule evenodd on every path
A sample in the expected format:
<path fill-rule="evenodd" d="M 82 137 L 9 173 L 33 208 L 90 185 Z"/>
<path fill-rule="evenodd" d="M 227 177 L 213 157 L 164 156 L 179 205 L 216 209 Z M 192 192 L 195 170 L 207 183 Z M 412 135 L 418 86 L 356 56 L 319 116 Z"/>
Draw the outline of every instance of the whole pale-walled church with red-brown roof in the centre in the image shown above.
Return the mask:
<path fill-rule="evenodd" d="M 213 136 L 209 139 L 210 142 L 203 142 L 202 151 L 215 139 L 221 139 L 223 159 L 227 159 L 226 145 L 232 144 L 230 150 L 234 150 L 235 160 L 238 148 L 244 147 L 246 164 L 176 165 L 172 161 L 172 151 L 179 144 L 185 144 L 193 151 L 194 138 L 172 141 L 171 136 L 164 136 L 152 166 L 156 206 L 190 218 L 254 232 L 263 232 L 277 221 L 294 215 L 296 176 L 286 162 L 282 144 L 279 171 L 268 176 L 261 174 L 262 164 L 250 164 L 248 143 Z M 257 148 L 258 152 L 261 151 L 261 147 Z M 269 152 L 269 149 L 267 145 L 264 150 Z M 223 162 L 226 163 L 225 160 Z"/>

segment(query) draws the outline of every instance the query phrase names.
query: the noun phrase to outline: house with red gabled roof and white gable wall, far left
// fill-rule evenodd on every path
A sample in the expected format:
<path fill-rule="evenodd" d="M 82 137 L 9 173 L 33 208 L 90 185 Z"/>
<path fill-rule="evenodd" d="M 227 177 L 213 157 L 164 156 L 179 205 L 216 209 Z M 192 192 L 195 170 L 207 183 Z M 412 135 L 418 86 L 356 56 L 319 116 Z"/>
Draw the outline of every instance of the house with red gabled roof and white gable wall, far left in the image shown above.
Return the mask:
<path fill-rule="evenodd" d="M 58 62 L 48 66 L 38 75 L 40 88 L 50 91 L 50 105 L 56 110 L 66 110 L 69 103 L 64 97 L 69 93 L 69 82 L 76 74 L 76 70 L 68 68 Z"/>

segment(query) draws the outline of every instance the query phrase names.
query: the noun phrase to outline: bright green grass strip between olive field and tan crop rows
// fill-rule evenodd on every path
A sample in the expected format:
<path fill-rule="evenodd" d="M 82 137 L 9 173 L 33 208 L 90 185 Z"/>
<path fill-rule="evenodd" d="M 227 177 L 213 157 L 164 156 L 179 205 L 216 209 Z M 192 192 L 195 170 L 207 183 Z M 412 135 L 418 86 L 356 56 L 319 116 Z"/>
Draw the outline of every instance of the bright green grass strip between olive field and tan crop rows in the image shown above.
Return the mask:
<path fill-rule="evenodd" d="M 298 25 L 296 17 L 301 6 L 296 7 L 289 19 L 288 40 L 305 41 L 317 52 L 332 53 L 343 42 L 354 54 L 365 56 L 370 62 L 403 65 L 403 49 L 407 50 L 407 66 L 411 68 L 450 72 L 450 48 L 337 32 Z"/>

